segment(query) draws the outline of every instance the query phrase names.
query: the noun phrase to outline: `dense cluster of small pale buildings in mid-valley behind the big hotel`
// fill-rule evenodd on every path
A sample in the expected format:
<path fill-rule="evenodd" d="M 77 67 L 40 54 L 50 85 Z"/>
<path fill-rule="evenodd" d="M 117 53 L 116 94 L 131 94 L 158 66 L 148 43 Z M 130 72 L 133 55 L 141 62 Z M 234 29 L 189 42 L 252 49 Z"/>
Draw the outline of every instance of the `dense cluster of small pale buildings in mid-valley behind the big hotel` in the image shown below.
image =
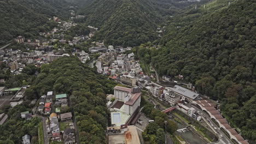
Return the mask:
<path fill-rule="evenodd" d="M 150 77 L 143 74 L 139 61 L 135 61 L 134 53 L 123 54 L 117 51 L 102 53 L 96 62 L 98 73 L 109 75 L 110 79 L 131 87 L 145 87 Z"/>

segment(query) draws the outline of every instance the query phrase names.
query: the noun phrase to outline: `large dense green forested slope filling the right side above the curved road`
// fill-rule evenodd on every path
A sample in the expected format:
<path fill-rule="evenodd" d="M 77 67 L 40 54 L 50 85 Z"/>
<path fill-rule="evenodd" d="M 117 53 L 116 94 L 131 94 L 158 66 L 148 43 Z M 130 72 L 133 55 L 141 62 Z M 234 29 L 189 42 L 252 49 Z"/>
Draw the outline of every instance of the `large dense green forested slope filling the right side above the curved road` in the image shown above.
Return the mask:
<path fill-rule="evenodd" d="M 223 115 L 256 140 L 256 3 L 213 1 L 185 11 L 168 26 L 160 49 L 133 49 L 160 75 L 179 74 L 197 91 L 220 100 Z"/>

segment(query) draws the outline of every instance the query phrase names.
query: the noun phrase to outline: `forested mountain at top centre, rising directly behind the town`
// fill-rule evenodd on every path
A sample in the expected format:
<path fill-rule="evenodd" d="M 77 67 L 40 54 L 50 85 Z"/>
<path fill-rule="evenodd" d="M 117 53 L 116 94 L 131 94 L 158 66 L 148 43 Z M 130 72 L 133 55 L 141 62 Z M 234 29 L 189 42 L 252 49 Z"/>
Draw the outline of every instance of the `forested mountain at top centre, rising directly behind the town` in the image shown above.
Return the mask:
<path fill-rule="evenodd" d="M 90 0 L 78 14 L 85 15 L 80 22 L 100 28 L 96 33 L 97 40 L 110 45 L 137 46 L 159 38 L 156 28 L 165 21 L 163 16 L 175 14 L 182 7 L 177 2 Z M 186 5 L 189 4 L 184 7 Z"/>

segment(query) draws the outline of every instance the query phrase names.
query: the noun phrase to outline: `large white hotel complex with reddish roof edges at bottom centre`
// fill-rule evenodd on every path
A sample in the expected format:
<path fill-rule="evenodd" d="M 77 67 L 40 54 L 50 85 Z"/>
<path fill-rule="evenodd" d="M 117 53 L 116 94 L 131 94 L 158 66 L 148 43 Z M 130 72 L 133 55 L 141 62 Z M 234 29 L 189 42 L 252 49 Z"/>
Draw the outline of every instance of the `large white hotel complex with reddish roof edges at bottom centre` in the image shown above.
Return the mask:
<path fill-rule="evenodd" d="M 136 118 L 141 104 L 141 89 L 139 87 L 114 87 L 115 99 L 108 101 L 111 127 L 107 127 L 109 143 L 140 143 Z"/>

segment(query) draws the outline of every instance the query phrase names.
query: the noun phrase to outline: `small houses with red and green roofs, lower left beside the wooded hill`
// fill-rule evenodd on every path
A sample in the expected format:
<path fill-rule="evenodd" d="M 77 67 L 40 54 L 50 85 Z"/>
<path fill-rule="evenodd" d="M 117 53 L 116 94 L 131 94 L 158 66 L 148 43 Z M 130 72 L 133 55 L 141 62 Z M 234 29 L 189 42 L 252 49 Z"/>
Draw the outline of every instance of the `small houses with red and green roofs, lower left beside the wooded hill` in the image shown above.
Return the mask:
<path fill-rule="evenodd" d="M 37 113 L 39 115 L 49 116 L 46 121 L 46 130 L 48 139 L 52 141 L 63 141 L 65 144 L 75 143 L 74 126 L 72 113 L 61 111 L 61 107 L 68 106 L 67 94 L 56 94 L 47 92 L 39 99 Z M 60 125 L 66 124 L 65 129 L 61 129 Z"/>

